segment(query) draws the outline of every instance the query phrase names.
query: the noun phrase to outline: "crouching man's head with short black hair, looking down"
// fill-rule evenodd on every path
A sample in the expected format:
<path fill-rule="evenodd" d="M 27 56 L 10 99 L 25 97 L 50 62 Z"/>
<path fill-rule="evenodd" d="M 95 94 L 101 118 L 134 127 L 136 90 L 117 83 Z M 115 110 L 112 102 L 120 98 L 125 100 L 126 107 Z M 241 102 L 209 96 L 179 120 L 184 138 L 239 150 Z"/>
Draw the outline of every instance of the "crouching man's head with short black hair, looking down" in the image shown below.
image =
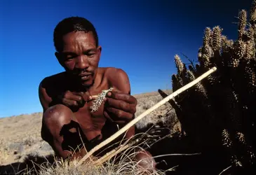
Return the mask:
<path fill-rule="evenodd" d="M 93 85 L 101 53 L 95 27 L 85 18 L 65 18 L 53 38 L 55 56 L 67 73 L 83 86 Z"/>

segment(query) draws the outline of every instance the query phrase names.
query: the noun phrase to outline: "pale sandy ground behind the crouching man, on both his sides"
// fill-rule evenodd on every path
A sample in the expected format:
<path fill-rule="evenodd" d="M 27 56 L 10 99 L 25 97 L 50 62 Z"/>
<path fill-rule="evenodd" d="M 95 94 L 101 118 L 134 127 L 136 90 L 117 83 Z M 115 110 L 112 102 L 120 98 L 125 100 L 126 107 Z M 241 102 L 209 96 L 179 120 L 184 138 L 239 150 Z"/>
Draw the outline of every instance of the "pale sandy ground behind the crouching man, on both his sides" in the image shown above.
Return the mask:
<path fill-rule="evenodd" d="M 138 101 L 136 116 L 162 99 L 158 92 L 136 94 L 134 97 Z M 161 106 L 137 123 L 137 127 L 163 120 L 161 116 L 170 109 L 170 104 Z M 22 162 L 29 154 L 40 156 L 53 154 L 52 148 L 41 139 L 41 117 L 42 113 L 32 113 L 0 118 L 0 165 Z"/>

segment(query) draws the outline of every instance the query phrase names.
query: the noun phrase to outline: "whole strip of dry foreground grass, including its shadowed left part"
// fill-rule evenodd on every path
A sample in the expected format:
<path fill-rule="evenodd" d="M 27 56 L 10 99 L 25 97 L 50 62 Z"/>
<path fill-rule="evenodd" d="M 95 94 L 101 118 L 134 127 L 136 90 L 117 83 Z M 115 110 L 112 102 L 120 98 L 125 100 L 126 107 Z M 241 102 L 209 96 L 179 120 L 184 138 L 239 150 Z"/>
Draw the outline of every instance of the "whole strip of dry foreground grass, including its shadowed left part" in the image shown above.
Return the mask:
<path fill-rule="evenodd" d="M 134 138 L 143 138 L 147 134 L 137 134 Z M 137 140 L 137 139 L 136 139 Z M 126 141 L 119 149 L 126 146 L 129 141 Z M 140 167 L 139 163 L 135 161 L 135 155 L 138 152 L 144 151 L 142 143 L 136 146 L 130 146 L 120 154 L 114 155 L 112 159 L 103 162 L 102 164 L 95 164 L 95 160 L 86 160 L 82 165 L 79 165 L 78 160 L 62 160 L 51 158 L 48 161 L 47 158 L 36 158 L 36 155 L 26 158 L 25 164 L 20 166 L 20 169 L 14 167 L 13 174 L 166 174 L 166 172 L 172 172 L 175 167 L 170 168 L 166 171 L 161 170 L 149 170 L 153 166 L 150 160 L 140 160 L 148 164 L 148 169 Z M 170 155 L 169 155 L 170 156 Z M 26 167 L 27 165 L 27 167 Z M 6 171 L 7 172 L 7 171 Z M 4 171 L 1 173 L 5 173 Z M 10 171 L 9 171 L 10 173 Z M 6 173 L 8 174 L 8 173 Z"/>

